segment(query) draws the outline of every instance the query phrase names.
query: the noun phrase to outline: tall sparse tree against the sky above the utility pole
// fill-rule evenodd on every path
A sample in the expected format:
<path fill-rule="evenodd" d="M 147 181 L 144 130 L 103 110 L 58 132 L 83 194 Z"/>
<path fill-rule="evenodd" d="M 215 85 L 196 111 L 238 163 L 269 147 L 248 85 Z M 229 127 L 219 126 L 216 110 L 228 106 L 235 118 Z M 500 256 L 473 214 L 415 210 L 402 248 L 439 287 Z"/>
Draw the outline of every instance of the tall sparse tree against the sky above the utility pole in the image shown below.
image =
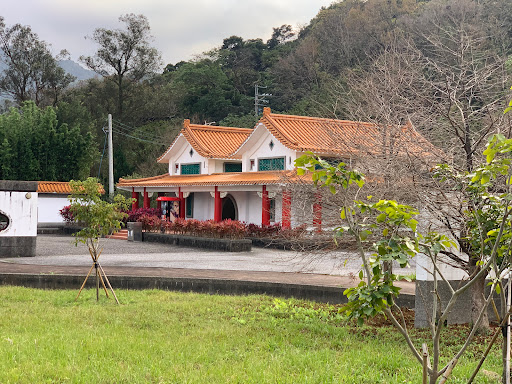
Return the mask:
<path fill-rule="evenodd" d="M 150 45 L 153 37 L 144 15 L 130 13 L 120 16 L 119 21 L 125 24 L 124 29 L 96 28 L 90 39 L 98 44 L 98 50 L 94 56 L 80 56 L 80 60 L 115 83 L 117 113 L 121 119 L 130 83 L 156 72 L 161 59 L 157 49 Z"/>

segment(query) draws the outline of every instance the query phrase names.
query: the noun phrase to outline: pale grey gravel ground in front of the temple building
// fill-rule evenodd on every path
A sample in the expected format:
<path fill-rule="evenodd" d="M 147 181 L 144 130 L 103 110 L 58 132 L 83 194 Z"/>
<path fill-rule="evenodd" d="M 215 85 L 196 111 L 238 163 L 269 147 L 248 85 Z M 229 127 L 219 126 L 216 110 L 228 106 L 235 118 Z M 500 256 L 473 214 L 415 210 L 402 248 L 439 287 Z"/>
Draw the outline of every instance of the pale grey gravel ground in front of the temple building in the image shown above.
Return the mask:
<path fill-rule="evenodd" d="M 302 254 L 266 248 L 251 252 L 217 252 L 158 243 L 126 240 L 102 240 L 101 264 L 122 267 L 190 268 L 231 271 L 296 272 L 333 276 L 359 273 L 360 261 L 350 252 Z M 74 245 L 68 236 L 39 235 L 35 257 L 2 259 L 6 262 L 34 265 L 89 266 L 91 259 L 84 244 Z M 410 275 L 415 266 L 395 272 Z"/>

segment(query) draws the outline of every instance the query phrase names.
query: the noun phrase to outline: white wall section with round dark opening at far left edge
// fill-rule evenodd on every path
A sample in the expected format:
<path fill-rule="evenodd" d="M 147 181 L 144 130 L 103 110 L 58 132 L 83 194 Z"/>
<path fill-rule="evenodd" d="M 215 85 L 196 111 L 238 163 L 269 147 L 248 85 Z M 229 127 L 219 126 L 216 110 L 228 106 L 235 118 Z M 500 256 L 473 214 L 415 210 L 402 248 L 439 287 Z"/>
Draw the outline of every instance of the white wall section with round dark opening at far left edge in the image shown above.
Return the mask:
<path fill-rule="evenodd" d="M 37 192 L 0 191 L 0 211 L 10 221 L 0 236 L 37 236 Z"/>

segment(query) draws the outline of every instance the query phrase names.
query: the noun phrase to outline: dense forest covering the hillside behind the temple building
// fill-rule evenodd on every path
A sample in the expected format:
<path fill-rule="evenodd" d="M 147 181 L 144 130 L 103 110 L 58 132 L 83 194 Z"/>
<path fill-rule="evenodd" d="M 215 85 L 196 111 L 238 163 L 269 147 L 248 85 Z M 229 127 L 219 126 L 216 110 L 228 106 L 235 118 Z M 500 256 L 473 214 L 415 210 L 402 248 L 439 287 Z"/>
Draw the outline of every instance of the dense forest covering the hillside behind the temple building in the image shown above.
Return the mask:
<path fill-rule="evenodd" d="M 98 76 L 81 82 L 55 64 L 66 52 L 52 56 L 29 26 L 7 22 L 0 91 L 13 107 L 0 116 L 0 179 L 104 178 L 108 113 L 115 178 L 163 173 L 155 159 L 184 118 L 252 127 L 255 85 L 275 112 L 411 122 L 467 169 L 487 135 L 511 128 L 508 0 L 345 0 L 300 30 L 226 37 L 165 67 L 147 19 L 124 15 L 119 29 L 94 31 L 97 52 L 81 62 Z"/>

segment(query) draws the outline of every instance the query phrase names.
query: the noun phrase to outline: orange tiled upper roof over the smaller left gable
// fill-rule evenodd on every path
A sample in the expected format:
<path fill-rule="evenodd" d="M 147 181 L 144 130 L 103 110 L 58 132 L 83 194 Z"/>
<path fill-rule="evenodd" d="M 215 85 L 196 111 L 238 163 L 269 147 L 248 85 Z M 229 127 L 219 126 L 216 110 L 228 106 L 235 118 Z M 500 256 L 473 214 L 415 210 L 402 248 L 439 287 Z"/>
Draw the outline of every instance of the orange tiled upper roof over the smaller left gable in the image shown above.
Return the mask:
<path fill-rule="evenodd" d="M 203 157 L 210 159 L 241 159 L 242 156 L 235 155 L 234 152 L 249 137 L 252 131 L 249 128 L 190 124 L 190 120 L 187 119 L 183 123 L 180 134 Z M 167 151 L 157 161 L 160 161 L 169 152 L 177 139 L 174 139 Z"/>

